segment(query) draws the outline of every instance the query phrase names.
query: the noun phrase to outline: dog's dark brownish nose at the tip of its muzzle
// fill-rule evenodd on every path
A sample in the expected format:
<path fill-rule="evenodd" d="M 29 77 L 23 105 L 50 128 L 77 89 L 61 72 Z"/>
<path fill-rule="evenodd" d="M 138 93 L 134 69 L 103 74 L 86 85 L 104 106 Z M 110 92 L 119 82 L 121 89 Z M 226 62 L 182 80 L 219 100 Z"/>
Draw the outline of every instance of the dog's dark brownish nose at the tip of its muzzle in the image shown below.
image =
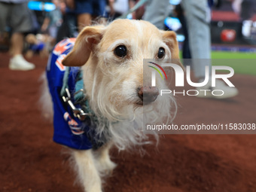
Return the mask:
<path fill-rule="evenodd" d="M 157 87 L 143 86 L 138 88 L 139 99 L 141 99 L 144 104 L 154 102 L 158 95 L 159 90 Z"/>

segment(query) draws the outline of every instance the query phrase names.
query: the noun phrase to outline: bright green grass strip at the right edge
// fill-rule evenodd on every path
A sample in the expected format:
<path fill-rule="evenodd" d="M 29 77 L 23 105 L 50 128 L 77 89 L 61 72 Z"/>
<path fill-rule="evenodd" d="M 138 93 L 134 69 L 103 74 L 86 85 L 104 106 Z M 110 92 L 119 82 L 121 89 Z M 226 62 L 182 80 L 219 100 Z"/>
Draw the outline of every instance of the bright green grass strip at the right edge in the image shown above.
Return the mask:
<path fill-rule="evenodd" d="M 212 51 L 212 59 L 213 65 L 230 66 L 236 74 L 256 75 L 256 53 Z M 229 59 L 226 65 L 224 59 Z"/>

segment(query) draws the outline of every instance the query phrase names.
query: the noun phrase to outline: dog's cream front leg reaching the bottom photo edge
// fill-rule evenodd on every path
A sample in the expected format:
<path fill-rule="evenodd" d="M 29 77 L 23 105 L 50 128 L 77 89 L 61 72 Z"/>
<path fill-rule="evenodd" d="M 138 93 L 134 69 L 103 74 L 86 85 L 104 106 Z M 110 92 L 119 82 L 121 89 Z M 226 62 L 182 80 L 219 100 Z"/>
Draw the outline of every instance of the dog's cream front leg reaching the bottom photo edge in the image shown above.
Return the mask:
<path fill-rule="evenodd" d="M 102 181 L 96 169 L 92 150 L 74 151 L 79 180 L 86 192 L 101 192 Z"/>

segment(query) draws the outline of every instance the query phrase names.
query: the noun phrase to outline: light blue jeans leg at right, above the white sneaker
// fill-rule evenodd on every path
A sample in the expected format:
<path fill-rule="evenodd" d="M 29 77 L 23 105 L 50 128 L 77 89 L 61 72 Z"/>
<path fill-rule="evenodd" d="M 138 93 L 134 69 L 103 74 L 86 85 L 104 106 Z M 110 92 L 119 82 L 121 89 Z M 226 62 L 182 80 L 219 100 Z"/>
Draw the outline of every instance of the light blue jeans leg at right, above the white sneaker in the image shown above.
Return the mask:
<path fill-rule="evenodd" d="M 193 63 L 194 75 L 196 78 L 204 78 L 205 67 L 211 66 L 210 18 L 207 1 L 183 0 L 182 8 L 187 22 L 190 53 L 192 59 L 197 59 L 197 62 Z"/>

